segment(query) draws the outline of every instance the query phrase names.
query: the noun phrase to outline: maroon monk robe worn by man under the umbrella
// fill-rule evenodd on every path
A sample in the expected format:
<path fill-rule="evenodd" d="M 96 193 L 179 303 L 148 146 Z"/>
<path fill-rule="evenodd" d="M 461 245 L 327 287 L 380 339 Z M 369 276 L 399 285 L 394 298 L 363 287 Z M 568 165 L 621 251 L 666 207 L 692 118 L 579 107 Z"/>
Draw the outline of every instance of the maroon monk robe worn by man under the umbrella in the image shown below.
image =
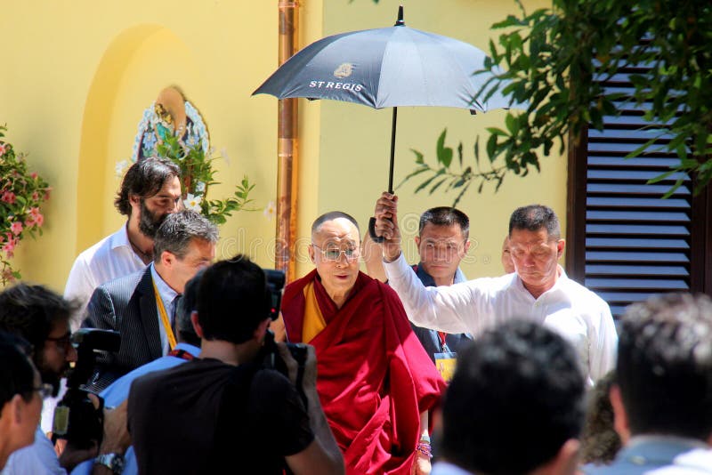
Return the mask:
<path fill-rule="evenodd" d="M 316 270 L 285 289 L 282 316 L 290 342 L 302 341 L 303 289 L 314 283 L 326 328 L 316 348 L 317 391 L 349 474 L 409 474 L 420 413 L 445 383 L 410 328 L 391 287 L 362 272 L 341 309 Z"/>

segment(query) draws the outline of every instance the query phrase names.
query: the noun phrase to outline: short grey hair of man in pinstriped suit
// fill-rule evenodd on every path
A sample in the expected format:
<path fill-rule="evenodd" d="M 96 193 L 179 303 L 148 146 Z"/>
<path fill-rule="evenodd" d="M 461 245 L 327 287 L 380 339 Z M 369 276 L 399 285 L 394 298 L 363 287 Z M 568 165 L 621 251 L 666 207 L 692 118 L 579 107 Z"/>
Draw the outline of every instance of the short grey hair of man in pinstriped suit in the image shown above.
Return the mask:
<path fill-rule="evenodd" d="M 164 251 L 182 259 L 192 239 L 215 243 L 217 228 L 205 216 L 189 209 L 168 214 L 153 238 L 153 261 L 160 262 Z"/>

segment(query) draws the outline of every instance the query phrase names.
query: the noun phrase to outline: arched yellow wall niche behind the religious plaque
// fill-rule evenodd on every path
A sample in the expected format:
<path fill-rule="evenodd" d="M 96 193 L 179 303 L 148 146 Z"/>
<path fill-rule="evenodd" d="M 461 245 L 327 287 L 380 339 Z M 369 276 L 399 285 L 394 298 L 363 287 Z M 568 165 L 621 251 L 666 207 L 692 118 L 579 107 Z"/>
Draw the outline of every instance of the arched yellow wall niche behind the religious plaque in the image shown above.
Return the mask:
<path fill-rule="evenodd" d="M 128 28 L 109 44 L 85 103 L 78 160 L 77 254 L 125 222 L 113 205 L 121 183 L 117 164 L 130 163 L 143 110 L 166 85 L 181 86 L 195 101 L 205 91 L 199 70 L 188 46 L 161 25 Z"/>

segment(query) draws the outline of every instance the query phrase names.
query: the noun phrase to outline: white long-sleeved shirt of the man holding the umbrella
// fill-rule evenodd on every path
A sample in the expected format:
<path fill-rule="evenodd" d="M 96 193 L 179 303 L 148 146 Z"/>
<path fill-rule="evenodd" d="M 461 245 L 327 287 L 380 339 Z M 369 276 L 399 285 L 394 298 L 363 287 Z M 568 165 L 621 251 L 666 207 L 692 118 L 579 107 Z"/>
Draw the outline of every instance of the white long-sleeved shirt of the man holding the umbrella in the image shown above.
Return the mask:
<path fill-rule="evenodd" d="M 589 386 L 615 366 L 618 335 L 611 309 L 563 271 L 554 286 L 535 299 L 516 273 L 425 287 L 402 254 L 394 262 L 384 262 L 384 268 L 388 283 L 417 326 L 471 333 L 476 339 L 484 330 L 512 318 L 533 319 L 573 344 Z"/>

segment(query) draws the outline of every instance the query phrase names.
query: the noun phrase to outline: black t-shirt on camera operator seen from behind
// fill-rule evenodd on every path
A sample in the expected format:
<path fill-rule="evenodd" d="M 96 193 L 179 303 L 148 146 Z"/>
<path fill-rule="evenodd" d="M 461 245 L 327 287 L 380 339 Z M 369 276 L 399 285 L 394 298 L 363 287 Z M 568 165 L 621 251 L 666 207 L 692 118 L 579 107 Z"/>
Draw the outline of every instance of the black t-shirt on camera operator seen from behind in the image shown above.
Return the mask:
<path fill-rule="evenodd" d="M 142 474 L 282 473 L 314 439 L 285 376 L 216 359 L 136 379 L 128 428 Z"/>

